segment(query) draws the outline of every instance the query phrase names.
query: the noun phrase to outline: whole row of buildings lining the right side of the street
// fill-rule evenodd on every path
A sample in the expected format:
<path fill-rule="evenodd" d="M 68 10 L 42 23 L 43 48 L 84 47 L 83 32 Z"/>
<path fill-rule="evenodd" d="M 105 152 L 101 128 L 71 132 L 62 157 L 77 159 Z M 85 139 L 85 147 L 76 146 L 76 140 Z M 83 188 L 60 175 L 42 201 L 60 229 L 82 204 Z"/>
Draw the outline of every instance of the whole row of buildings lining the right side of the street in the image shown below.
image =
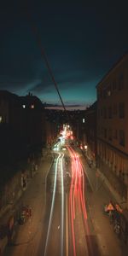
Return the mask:
<path fill-rule="evenodd" d="M 74 132 L 128 207 L 128 54 L 96 85 L 96 94 L 96 102 L 79 114 Z"/>

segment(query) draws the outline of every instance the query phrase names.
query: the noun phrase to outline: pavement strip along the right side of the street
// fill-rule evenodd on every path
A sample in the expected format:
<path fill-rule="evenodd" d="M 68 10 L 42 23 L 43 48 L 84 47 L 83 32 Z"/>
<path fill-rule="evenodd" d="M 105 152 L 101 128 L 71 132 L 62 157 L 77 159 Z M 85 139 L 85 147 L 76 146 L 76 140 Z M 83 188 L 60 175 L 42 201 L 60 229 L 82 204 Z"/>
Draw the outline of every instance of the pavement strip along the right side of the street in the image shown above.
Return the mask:
<path fill-rule="evenodd" d="M 97 172 L 95 167 L 87 164 L 84 156 L 84 170 L 88 177 L 91 193 L 89 198 L 89 210 L 92 223 L 94 225 L 97 240 L 102 251 L 102 256 L 126 256 L 128 252 L 128 244 L 119 240 L 113 231 L 113 224 L 110 224 L 108 216 L 103 214 L 103 206 L 109 201 L 118 202 L 121 199 L 108 183 L 107 179 L 102 176 L 100 171 Z"/>

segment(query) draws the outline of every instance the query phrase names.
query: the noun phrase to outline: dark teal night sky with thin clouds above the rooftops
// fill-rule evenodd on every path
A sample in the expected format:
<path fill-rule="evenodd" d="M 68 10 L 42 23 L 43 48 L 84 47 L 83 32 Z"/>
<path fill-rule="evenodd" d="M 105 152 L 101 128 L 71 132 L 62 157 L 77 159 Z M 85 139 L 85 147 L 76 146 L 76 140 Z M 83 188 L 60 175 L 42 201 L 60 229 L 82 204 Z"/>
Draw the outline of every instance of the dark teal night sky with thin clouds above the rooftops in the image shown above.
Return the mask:
<path fill-rule="evenodd" d="M 96 84 L 127 51 L 127 1 L 3 2 L 0 89 L 61 103 L 38 46 L 39 35 L 63 102 L 95 102 Z"/>

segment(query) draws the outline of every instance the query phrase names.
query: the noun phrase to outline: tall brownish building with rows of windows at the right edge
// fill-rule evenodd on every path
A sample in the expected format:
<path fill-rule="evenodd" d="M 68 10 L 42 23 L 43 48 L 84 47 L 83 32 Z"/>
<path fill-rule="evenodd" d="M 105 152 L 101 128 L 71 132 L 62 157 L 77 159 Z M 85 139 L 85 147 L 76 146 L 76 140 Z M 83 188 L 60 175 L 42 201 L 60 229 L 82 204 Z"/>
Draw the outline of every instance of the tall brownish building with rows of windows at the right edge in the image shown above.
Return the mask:
<path fill-rule="evenodd" d="M 128 54 L 96 90 L 98 167 L 128 203 Z"/>

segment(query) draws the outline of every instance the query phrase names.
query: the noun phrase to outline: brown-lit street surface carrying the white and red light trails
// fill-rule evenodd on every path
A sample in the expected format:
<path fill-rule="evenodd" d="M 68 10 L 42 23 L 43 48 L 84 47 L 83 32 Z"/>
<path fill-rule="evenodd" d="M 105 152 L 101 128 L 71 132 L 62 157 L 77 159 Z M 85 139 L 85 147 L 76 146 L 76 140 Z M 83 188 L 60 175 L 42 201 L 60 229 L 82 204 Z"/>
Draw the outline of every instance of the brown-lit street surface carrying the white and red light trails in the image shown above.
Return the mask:
<path fill-rule="evenodd" d="M 53 165 L 47 161 L 42 164 L 26 190 L 25 202 L 32 207 L 32 218 L 16 227 L 13 244 L 4 255 L 126 255 L 102 208 L 97 213 L 101 191 L 90 182 L 89 174 L 94 173 L 89 173 L 82 155 L 69 146 L 66 154 L 60 150 L 54 155 Z M 102 195 L 106 198 L 105 192 Z"/>

